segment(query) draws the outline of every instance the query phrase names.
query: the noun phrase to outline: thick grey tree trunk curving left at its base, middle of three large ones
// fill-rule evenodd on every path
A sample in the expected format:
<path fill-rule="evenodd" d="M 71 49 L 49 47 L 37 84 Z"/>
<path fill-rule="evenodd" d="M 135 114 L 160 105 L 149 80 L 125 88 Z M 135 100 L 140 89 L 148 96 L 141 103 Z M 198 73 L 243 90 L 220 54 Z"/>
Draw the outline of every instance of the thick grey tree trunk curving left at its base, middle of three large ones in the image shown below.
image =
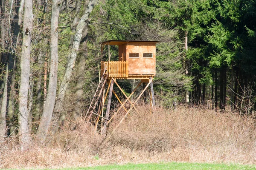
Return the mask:
<path fill-rule="evenodd" d="M 46 102 L 44 111 L 41 116 L 41 121 L 37 131 L 37 140 L 41 144 L 44 143 L 55 104 L 57 90 L 57 75 L 58 75 L 58 17 L 60 11 L 60 0 L 52 0 L 52 19 L 51 19 L 51 43 L 50 43 L 50 76 Z"/>

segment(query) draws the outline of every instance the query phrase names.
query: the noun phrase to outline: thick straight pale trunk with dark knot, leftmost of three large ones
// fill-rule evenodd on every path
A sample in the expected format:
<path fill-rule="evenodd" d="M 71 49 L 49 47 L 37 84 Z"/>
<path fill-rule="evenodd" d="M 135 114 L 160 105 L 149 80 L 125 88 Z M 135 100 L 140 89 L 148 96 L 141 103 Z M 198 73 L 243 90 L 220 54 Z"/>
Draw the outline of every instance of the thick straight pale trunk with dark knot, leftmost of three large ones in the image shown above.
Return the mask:
<path fill-rule="evenodd" d="M 29 69 L 30 48 L 33 28 L 32 0 L 25 0 L 23 17 L 23 41 L 20 59 L 20 89 L 19 89 L 19 141 L 21 150 L 25 150 L 31 144 L 31 134 L 28 127 L 28 91 L 29 91 Z"/>

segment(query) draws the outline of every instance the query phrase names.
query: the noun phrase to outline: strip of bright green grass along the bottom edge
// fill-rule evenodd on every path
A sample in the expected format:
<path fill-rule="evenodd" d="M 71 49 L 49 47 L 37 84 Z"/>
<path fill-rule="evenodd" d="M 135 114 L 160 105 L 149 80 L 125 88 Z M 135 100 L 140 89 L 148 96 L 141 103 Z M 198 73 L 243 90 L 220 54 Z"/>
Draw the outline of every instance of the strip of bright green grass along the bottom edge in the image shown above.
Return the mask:
<path fill-rule="evenodd" d="M 96 167 L 67 168 L 65 170 L 256 170 L 256 165 L 170 162 L 159 164 L 105 165 Z"/>

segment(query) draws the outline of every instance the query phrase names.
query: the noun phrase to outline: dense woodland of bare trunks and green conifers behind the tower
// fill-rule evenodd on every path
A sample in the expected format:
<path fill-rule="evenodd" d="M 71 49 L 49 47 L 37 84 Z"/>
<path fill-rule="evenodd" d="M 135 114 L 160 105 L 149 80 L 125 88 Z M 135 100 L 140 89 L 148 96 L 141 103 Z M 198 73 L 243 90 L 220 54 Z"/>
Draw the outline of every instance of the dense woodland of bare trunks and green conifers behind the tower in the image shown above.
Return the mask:
<path fill-rule="evenodd" d="M 0 32 L 0 141 L 18 136 L 21 149 L 85 115 L 106 40 L 160 41 L 161 107 L 254 113 L 255 0 L 0 0 Z"/>

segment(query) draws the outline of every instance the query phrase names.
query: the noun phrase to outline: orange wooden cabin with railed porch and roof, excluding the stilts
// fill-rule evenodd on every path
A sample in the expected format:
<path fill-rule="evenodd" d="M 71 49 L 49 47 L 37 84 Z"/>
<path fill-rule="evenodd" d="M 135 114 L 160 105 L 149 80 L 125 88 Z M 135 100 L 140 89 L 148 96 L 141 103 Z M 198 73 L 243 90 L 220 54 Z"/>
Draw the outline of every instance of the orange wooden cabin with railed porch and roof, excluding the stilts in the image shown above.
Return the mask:
<path fill-rule="evenodd" d="M 149 79 L 156 74 L 157 41 L 118 41 L 102 42 L 105 45 L 118 45 L 118 61 L 102 61 L 101 73 L 108 67 L 108 76 L 123 79 Z M 110 55 L 109 55 L 110 56 Z"/>

